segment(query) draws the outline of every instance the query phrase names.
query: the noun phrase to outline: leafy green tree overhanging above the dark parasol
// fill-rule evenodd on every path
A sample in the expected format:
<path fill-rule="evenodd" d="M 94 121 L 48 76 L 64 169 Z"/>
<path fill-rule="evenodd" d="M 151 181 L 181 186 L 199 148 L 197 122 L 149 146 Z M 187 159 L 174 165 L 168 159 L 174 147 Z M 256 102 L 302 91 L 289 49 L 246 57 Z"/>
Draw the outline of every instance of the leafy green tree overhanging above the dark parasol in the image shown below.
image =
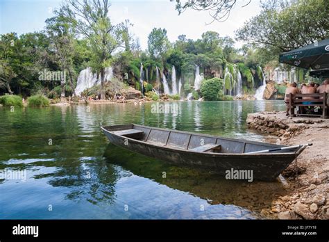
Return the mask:
<path fill-rule="evenodd" d="M 329 1 L 264 1 L 260 15 L 236 31 L 237 39 L 269 49 L 273 57 L 282 51 L 328 38 Z"/>

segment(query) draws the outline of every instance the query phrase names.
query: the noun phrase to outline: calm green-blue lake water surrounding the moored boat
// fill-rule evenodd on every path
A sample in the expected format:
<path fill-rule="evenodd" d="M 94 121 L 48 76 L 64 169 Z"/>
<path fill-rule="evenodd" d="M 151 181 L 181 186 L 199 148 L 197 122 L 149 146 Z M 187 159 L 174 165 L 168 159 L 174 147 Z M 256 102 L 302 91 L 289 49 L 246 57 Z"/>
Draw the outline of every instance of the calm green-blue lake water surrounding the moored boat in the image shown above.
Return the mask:
<path fill-rule="evenodd" d="M 264 218 L 286 191 L 277 182 L 226 181 L 108 143 L 101 125 L 134 122 L 249 140 L 246 115 L 278 101 L 0 107 L 0 218 Z M 164 173 L 165 172 L 165 173 Z M 163 175 L 166 174 L 164 177 Z M 16 176 L 16 177 L 15 177 Z"/>

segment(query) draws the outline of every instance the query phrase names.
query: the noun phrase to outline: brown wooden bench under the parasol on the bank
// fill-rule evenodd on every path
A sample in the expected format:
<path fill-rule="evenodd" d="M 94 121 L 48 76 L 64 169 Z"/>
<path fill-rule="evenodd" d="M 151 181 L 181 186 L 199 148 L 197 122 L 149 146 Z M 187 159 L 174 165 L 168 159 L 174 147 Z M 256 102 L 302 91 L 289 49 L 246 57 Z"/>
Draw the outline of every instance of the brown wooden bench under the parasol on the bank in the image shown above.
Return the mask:
<path fill-rule="evenodd" d="M 312 93 L 312 94 L 292 94 L 289 93 L 286 95 L 289 98 L 288 108 L 289 116 L 311 116 L 311 117 L 320 117 L 328 118 L 329 111 L 329 100 L 328 93 Z M 310 99 L 303 99 L 303 97 L 311 97 Z M 305 102 L 311 102 L 310 104 L 305 104 Z M 295 113 L 295 108 L 298 106 L 299 113 Z M 312 113 L 303 113 L 305 107 L 312 107 L 314 111 Z M 320 111 L 321 109 L 321 111 Z"/>

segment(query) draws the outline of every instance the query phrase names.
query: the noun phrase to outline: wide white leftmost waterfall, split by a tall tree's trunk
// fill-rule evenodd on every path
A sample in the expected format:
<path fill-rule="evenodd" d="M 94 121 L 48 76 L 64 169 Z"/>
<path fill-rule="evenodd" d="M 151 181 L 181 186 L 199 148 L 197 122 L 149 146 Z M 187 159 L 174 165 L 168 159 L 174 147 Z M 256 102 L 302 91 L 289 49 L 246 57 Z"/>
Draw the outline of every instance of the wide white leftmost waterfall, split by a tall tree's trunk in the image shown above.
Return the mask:
<path fill-rule="evenodd" d="M 104 80 L 110 81 L 113 76 L 113 69 L 112 67 L 106 67 L 105 68 L 105 75 Z M 81 92 L 83 92 L 87 88 L 92 88 L 93 86 L 99 85 L 101 83 L 101 75 L 99 74 L 97 78 L 97 74 L 92 73 L 92 68 L 87 67 L 84 70 L 82 70 L 78 75 L 78 81 L 76 83 L 76 95 L 81 95 Z"/>

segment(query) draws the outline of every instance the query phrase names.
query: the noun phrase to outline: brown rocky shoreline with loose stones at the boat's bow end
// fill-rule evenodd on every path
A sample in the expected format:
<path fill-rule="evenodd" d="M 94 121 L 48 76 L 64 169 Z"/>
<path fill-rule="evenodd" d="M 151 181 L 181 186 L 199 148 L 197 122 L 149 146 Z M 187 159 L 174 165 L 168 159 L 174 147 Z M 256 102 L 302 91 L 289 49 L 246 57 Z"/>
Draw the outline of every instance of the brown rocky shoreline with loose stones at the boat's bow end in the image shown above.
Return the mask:
<path fill-rule="evenodd" d="M 313 143 L 282 172 L 289 194 L 272 202 L 279 219 L 329 219 L 329 120 L 287 118 L 285 112 L 250 113 L 248 129 L 277 136 L 277 143 Z"/>

